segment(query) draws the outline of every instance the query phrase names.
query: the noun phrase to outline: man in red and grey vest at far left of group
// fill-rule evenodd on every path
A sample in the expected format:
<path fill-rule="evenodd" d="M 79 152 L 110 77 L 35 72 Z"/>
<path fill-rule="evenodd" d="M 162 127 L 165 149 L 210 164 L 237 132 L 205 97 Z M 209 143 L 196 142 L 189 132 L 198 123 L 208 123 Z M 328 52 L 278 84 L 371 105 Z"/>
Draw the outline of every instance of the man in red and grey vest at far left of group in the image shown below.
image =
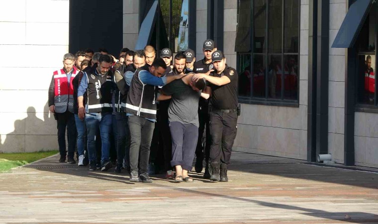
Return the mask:
<path fill-rule="evenodd" d="M 74 164 L 76 145 L 76 125 L 74 116 L 73 80 L 78 74 L 74 66 L 75 56 L 67 53 L 63 56 L 63 68 L 53 73 L 49 87 L 49 110 L 57 120 L 59 162 L 66 161 L 66 127 L 68 142 L 68 163 Z"/>

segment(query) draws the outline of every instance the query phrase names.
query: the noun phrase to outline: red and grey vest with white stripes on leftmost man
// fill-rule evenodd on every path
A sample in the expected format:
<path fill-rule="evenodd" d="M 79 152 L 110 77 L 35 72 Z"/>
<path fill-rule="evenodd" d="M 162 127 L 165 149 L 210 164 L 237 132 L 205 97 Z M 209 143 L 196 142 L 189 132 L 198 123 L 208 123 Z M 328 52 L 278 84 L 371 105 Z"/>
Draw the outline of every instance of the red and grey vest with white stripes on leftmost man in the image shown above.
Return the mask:
<path fill-rule="evenodd" d="M 70 84 L 68 84 L 67 74 L 61 69 L 54 72 L 55 80 L 55 112 L 63 113 L 67 111 L 74 112 L 74 86 L 73 80 L 78 74 L 78 70 L 74 68 L 71 73 Z"/>

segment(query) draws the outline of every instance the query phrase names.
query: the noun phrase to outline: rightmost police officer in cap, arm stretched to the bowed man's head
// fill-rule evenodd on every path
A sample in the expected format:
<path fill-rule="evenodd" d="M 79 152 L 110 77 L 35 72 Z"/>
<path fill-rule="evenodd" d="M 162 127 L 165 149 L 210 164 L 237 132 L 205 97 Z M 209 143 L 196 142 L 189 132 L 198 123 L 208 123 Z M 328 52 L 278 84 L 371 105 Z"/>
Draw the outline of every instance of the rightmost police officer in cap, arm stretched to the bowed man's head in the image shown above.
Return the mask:
<path fill-rule="evenodd" d="M 238 119 L 238 74 L 226 64 L 222 51 L 212 54 L 215 71 L 209 76 L 196 74 L 195 80 L 204 78 L 209 82 L 206 92 L 211 93 L 211 177 L 212 181 L 228 181 L 227 167 L 230 163 L 232 145 L 236 137 Z"/>

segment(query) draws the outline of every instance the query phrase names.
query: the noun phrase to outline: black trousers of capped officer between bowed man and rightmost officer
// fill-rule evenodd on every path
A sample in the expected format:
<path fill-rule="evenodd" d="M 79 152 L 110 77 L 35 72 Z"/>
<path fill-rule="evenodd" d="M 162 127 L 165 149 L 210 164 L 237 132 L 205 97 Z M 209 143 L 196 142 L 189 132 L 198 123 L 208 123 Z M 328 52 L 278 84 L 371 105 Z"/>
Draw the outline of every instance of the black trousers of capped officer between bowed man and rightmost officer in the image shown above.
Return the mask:
<path fill-rule="evenodd" d="M 197 147 L 195 149 L 195 155 L 197 158 L 205 158 L 205 161 L 210 160 L 210 145 L 211 145 L 211 135 L 209 128 L 209 104 L 208 101 L 199 101 L 198 105 L 198 140 Z M 205 132 L 205 137 L 203 141 L 203 133 Z"/>

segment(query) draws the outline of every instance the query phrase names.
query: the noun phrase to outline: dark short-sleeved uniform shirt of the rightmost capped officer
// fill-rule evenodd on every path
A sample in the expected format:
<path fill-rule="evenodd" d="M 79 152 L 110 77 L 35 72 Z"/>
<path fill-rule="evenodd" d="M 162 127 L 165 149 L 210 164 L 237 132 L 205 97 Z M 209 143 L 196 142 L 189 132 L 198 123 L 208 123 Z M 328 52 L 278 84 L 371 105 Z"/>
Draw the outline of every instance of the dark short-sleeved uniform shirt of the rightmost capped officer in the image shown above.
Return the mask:
<path fill-rule="evenodd" d="M 226 68 L 221 74 L 216 71 L 210 73 L 210 76 L 222 77 L 227 76 L 230 83 L 217 86 L 209 82 L 212 94 L 210 103 L 213 108 L 220 110 L 237 109 L 238 108 L 238 73 L 235 69 L 226 65 Z"/>

